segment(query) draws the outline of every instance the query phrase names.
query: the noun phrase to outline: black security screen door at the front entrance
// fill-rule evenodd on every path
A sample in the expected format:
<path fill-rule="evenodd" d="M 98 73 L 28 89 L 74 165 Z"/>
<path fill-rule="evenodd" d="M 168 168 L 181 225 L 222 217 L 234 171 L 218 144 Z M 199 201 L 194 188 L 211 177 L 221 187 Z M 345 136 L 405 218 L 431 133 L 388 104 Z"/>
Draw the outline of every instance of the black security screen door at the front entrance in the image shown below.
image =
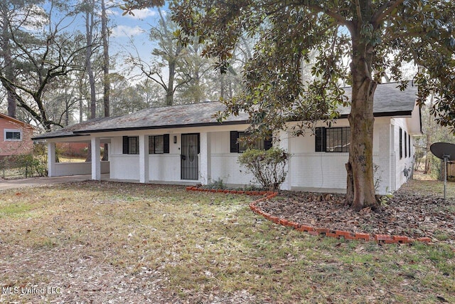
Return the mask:
<path fill-rule="evenodd" d="M 198 179 L 199 134 L 182 134 L 182 179 Z"/>

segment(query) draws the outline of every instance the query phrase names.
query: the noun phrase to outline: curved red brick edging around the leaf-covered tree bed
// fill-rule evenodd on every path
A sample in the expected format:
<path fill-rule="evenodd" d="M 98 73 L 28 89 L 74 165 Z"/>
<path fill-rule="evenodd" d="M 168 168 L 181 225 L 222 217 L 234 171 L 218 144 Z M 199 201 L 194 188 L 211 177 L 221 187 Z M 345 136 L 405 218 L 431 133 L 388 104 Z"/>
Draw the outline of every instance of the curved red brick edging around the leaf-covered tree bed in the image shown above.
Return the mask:
<path fill-rule="evenodd" d="M 256 206 L 256 203 L 259 201 L 264 201 L 266 199 L 272 199 L 278 195 L 278 192 L 258 192 L 258 191 L 237 191 L 237 190 L 223 190 L 223 189 L 203 189 L 198 187 L 186 187 L 186 191 L 199 191 L 199 192 L 218 192 L 218 193 L 230 193 L 230 194 L 246 194 L 246 195 L 263 195 L 260 199 L 256 199 L 250 203 L 250 209 L 268 219 L 269 221 L 274 222 L 282 226 L 289 226 L 298 231 L 306 231 L 312 236 L 329 236 L 336 239 L 346 239 L 346 240 L 358 240 L 358 241 L 375 241 L 376 243 L 412 243 L 414 241 L 419 241 L 422 243 L 429 243 L 432 241 L 429 237 L 412 239 L 409 236 L 390 236 L 388 234 L 363 234 L 359 232 L 350 232 L 343 230 L 332 230 L 326 228 L 316 228 L 314 226 L 299 224 L 295 221 L 288 221 L 287 219 L 280 218 L 278 216 L 273 216 L 268 214 Z"/>

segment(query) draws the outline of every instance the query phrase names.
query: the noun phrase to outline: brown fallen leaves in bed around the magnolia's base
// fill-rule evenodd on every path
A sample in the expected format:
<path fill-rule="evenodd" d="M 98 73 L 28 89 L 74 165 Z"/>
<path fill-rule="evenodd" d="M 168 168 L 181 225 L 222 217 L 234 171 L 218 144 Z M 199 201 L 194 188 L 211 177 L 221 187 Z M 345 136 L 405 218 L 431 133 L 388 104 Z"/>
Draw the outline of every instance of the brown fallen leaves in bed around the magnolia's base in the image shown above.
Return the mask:
<path fill-rule="evenodd" d="M 422 196 L 404 187 L 382 204 L 382 210 L 359 212 L 344 204 L 342 194 L 281 192 L 277 199 L 257 206 L 274 216 L 326 228 L 369 234 L 390 234 L 455 243 L 455 203 Z"/>

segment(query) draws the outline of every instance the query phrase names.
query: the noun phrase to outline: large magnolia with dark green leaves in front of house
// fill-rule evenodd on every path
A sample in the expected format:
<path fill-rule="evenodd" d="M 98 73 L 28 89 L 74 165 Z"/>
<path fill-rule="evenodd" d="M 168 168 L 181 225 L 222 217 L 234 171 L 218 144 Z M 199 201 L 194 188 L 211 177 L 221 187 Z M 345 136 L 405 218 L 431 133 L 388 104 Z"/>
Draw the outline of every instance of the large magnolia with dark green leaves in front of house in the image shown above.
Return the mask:
<path fill-rule="evenodd" d="M 151 5 L 129 0 L 129 8 L 132 3 Z M 244 70 L 245 93 L 227 100 L 224 113 L 248 112 L 252 131 L 286 129 L 289 120 L 301 121 L 304 130 L 314 120 L 336 118 L 338 105 L 350 105 L 346 203 L 355 210 L 378 206 L 373 100 L 383 75 L 404 88 L 402 65 L 419 66 L 417 102 L 430 92 L 439 95 L 433 109 L 439 123 L 455 124 L 453 1 L 185 0 L 173 1 L 171 9 L 181 41 L 198 36 L 203 54 L 217 58 L 222 73 L 240 37 L 259 34 Z M 313 77 L 302 79 L 311 51 L 317 53 Z M 343 100 L 341 80 L 352 85 L 350 100 Z"/>

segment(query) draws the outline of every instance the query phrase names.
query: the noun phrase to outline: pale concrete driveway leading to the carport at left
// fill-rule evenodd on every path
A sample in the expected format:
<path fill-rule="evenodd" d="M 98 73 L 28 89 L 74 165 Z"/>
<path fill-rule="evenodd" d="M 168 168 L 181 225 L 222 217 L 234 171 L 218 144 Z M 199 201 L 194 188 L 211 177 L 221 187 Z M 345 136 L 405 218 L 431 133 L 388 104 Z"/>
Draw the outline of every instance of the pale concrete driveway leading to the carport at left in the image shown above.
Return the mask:
<path fill-rule="evenodd" d="M 23 187 L 35 187 L 46 184 L 63 184 L 65 182 L 82 182 L 90 179 L 91 175 L 73 175 L 70 177 L 31 177 L 28 179 L 0 179 L 0 191 Z"/>

